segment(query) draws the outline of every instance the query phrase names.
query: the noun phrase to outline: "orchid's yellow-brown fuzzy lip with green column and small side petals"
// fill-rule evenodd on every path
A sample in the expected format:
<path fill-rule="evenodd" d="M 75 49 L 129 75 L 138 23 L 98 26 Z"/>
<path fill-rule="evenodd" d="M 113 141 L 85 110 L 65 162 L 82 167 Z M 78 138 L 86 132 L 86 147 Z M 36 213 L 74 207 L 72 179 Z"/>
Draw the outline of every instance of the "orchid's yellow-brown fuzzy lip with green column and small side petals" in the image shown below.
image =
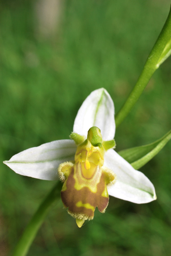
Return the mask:
<path fill-rule="evenodd" d="M 80 228 L 85 220 L 93 219 L 96 207 L 100 212 L 105 212 L 108 206 L 107 186 L 115 183 L 116 175 L 102 166 L 106 148 L 112 148 L 114 142 L 103 143 L 100 129 L 95 126 L 89 129 L 84 142 L 82 137 L 77 138 L 76 133 L 72 134 L 71 139 L 77 145 L 80 141 L 75 162 L 60 164 L 58 173 L 63 182 L 61 198 L 64 207 Z"/>

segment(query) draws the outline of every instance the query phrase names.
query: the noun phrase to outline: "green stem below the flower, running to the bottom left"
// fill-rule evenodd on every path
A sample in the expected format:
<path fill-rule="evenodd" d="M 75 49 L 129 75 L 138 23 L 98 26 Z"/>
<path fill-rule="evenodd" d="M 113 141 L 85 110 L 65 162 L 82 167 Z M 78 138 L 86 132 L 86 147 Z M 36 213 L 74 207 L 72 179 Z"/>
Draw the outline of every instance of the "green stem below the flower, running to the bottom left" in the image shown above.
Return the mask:
<path fill-rule="evenodd" d="M 59 197 L 60 189 L 59 182 L 55 185 L 55 187 L 50 191 L 48 196 L 43 200 L 37 212 L 33 215 L 30 223 L 26 227 L 23 235 L 21 236 L 19 243 L 15 247 L 15 250 L 12 256 L 25 256 L 32 244 L 34 237 L 37 234 L 44 218 L 46 217 L 52 203 Z"/>

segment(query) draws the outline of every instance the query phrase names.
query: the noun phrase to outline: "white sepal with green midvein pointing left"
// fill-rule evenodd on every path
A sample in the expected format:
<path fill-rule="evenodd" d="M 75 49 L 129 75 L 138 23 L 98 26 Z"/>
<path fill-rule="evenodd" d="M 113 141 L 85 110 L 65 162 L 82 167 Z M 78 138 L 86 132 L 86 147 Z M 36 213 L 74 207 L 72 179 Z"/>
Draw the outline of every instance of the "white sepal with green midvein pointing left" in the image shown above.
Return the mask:
<path fill-rule="evenodd" d="M 26 149 L 4 161 L 14 172 L 41 180 L 58 180 L 58 165 L 74 160 L 76 145 L 72 140 L 55 140 Z"/>

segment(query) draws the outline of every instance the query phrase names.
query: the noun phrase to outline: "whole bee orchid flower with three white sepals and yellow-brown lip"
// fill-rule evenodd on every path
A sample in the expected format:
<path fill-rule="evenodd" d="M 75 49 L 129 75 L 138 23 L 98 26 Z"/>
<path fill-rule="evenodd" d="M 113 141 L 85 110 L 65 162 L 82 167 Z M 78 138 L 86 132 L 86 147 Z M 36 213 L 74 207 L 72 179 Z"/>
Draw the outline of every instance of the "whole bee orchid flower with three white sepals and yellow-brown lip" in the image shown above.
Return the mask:
<path fill-rule="evenodd" d="M 63 182 L 61 198 L 78 227 L 105 212 L 109 195 L 137 204 L 156 199 L 151 181 L 115 148 L 114 103 L 104 89 L 93 91 L 74 121 L 71 139 L 26 149 L 4 161 L 14 172 Z"/>

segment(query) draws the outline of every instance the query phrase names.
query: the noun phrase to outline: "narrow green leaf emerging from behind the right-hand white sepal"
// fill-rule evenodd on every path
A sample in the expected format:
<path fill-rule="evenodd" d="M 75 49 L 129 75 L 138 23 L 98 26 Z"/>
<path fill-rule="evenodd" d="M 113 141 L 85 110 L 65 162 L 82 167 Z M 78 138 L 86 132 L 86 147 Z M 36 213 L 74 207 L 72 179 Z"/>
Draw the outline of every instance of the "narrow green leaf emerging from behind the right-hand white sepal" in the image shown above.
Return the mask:
<path fill-rule="evenodd" d="M 119 151 L 118 154 L 128 161 L 135 169 L 139 169 L 157 155 L 170 139 L 171 130 L 153 143 L 124 149 Z"/>

